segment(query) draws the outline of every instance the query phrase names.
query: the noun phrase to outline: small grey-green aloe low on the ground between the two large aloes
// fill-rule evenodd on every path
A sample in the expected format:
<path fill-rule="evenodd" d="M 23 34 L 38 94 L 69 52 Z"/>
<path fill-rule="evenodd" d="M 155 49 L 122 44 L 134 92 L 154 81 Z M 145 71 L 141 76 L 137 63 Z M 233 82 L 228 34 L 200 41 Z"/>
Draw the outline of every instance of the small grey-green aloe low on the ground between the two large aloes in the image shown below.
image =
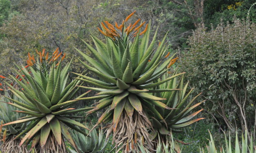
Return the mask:
<path fill-rule="evenodd" d="M 83 131 L 89 133 L 87 129 Z M 105 141 L 102 129 L 99 129 L 98 133 L 96 129 L 93 129 L 89 136 L 77 131 L 70 131 L 70 133 L 80 153 L 103 153 L 107 146 L 108 141 Z M 73 147 L 69 148 L 69 152 L 78 153 L 74 149 Z"/>

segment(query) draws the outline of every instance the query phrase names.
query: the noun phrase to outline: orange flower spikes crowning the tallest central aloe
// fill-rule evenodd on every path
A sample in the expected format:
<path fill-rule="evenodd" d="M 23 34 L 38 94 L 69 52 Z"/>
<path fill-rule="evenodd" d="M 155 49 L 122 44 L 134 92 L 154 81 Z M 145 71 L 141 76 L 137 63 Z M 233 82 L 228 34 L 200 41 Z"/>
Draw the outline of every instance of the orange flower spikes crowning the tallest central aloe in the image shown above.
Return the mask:
<path fill-rule="evenodd" d="M 120 35 L 122 35 L 122 32 L 124 31 L 127 36 L 129 34 L 132 34 L 133 37 L 135 37 L 138 33 L 139 33 L 139 29 L 145 24 L 145 22 L 142 22 L 142 24 L 140 24 L 138 27 L 136 27 L 136 25 L 138 24 L 138 22 L 140 22 L 141 19 L 138 19 L 134 24 L 129 24 L 129 26 L 127 26 L 127 28 L 125 28 L 125 23 L 129 20 L 129 18 L 134 15 L 136 11 L 134 11 L 133 13 L 131 13 L 130 15 L 128 15 L 125 20 L 122 21 L 122 24 L 120 24 L 120 26 L 118 26 L 118 23 L 115 22 L 115 26 L 110 24 L 107 21 L 104 21 L 105 24 L 107 26 L 105 26 L 105 24 L 103 22 L 101 22 L 102 27 L 104 28 L 105 32 L 102 31 L 99 27 L 98 30 L 100 31 L 100 33 L 102 33 L 103 35 L 107 36 L 107 37 L 111 37 L 115 40 L 115 37 L 120 37 Z M 148 24 L 146 25 L 145 29 L 139 34 L 142 35 L 147 31 L 147 27 Z M 125 28 L 125 29 L 124 29 Z"/>

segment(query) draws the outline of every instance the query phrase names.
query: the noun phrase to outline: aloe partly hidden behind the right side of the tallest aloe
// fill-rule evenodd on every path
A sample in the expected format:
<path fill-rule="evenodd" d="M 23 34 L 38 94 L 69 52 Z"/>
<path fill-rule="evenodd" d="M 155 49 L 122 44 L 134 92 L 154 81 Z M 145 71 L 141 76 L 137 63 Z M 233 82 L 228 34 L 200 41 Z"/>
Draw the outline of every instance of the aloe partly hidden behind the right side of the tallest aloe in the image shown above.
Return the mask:
<path fill-rule="evenodd" d="M 174 72 L 172 76 L 176 75 L 177 70 Z M 161 82 L 168 78 L 170 74 L 165 74 L 161 77 L 161 79 L 158 79 L 157 82 Z M 157 87 L 152 88 L 151 90 L 159 90 L 159 89 L 173 89 L 173 91 L 167 91 L 167 92 L 159 92 L 154 93 L 154 96 L 160 96 L 165 98 L 162 102 L 171 108 L 176 108 L 172 110 L 163 109 L 161 107 L 158 107 L 157 105 L 154 105 L 154 107 L 151 107 L 149 110 L 151 111 L 151 121 L 152 125 L 154 127 L 154 131 L 151 132 L 151 140 L 157 140 L 157 136 L 161 138 L 161 140 L 166 140 L 166 136 L 171 136 L 171 132 L 182 132 L 180 129 L 187 127 L 194 122 L 197 122 L 203 118 L 197 118 L 192 120 L 200 111 L 203 109 L 200 109 L 196 112 L 191 113 L 191 111 L 194 111 L 194 109 L 197 109 L 200 104 L 202 104 L 204 101 L 200 103 L 193 104 L 196 98 L 201 94 L 198 94 L 194 98 L 192 98 L 189 101 L 189 96 L 191 92 L 193 91 L 193 88 L 187 92 L 187 87 L 189 82 L 186 84 L 183 83 L 184 75 L 178 80 L 178 78 L 174 78 L 169 82 L 163 83 Z M 154 113 L 155 111 L 159 112 L 161 116 L 163 116 L 164 120 L 161 118 L 158 118 Z M 181 141 L 178 141 L 181 142 Z"/>

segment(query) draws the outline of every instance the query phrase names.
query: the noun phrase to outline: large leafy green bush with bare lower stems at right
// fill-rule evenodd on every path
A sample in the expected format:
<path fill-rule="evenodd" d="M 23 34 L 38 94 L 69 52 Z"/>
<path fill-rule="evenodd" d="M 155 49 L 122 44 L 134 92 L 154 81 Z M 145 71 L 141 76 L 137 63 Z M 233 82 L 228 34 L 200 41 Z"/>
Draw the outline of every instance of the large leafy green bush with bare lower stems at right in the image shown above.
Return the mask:
<path fill-rule="evenodd" d="M 250 130 L 255 120 L 256 25 L 233 20 L 209 32 L 196 30 L 180 67 L 190 74 L 191 85 L 203 91 L 206 110 L 217 122 L 225 121 L 220 127 L 234 132 L 236 126 Z"/>

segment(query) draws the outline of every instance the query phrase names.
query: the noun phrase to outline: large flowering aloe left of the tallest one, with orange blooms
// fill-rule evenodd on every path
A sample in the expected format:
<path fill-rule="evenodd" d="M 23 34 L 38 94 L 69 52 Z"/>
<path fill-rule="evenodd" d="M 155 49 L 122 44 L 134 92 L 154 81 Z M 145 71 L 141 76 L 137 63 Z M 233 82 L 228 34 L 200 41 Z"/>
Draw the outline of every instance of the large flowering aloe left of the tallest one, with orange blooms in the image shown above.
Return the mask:
<path fill-rule="evenodd" d="M 18 74 L 17 77 L 21 77 L 21 79 L 10 75 L 22 90 L 17 90 L 7 83 L 10 87 L 9 90 L 20 99 L 20 101 L 16 101 L 13 98 L 6 97 L 13 102 L 7 104 L 21 109 L 22 111 L 18 112 L 28 116 L 6 123 L 3 126 L 31 121 L 26 129 L 16 137 L 19 138 L 25 134 L 20 145 L 32 140 L 32 146 L 36 146 L 40 142 L 40 153 L 55 153 L 56 150 L 58 150 L 58 153 L 65 153 L 67 151 L 63 136 L 67 138 L 71 145 L 75 146 L 65 125 L 78 131 L 80 129 L 76 126 L 87 128 L 85 125 L 70 119 L 77 116 L 69 116 L 68 114 L 83 111 L 87 108 L 70 108 L 71 105 L 77 102 L 77 100 L 72 100 L 72 97 L 78 90 L 76 85 L 79 84 L 78 80 L 67 84 L 71 61 L 62 68 L 62 58 L 56 67 L 56 61 L 60 57 L 58 50 L 54 52 L 51 58 L 48 58 L 48 53 L 45 55 L 44 50 L 38 52 L 38 55 L 38 60 L 29 55 L 27 63 L 31 74 L 26 68 L 19 68 L 16 73 Z"/>

